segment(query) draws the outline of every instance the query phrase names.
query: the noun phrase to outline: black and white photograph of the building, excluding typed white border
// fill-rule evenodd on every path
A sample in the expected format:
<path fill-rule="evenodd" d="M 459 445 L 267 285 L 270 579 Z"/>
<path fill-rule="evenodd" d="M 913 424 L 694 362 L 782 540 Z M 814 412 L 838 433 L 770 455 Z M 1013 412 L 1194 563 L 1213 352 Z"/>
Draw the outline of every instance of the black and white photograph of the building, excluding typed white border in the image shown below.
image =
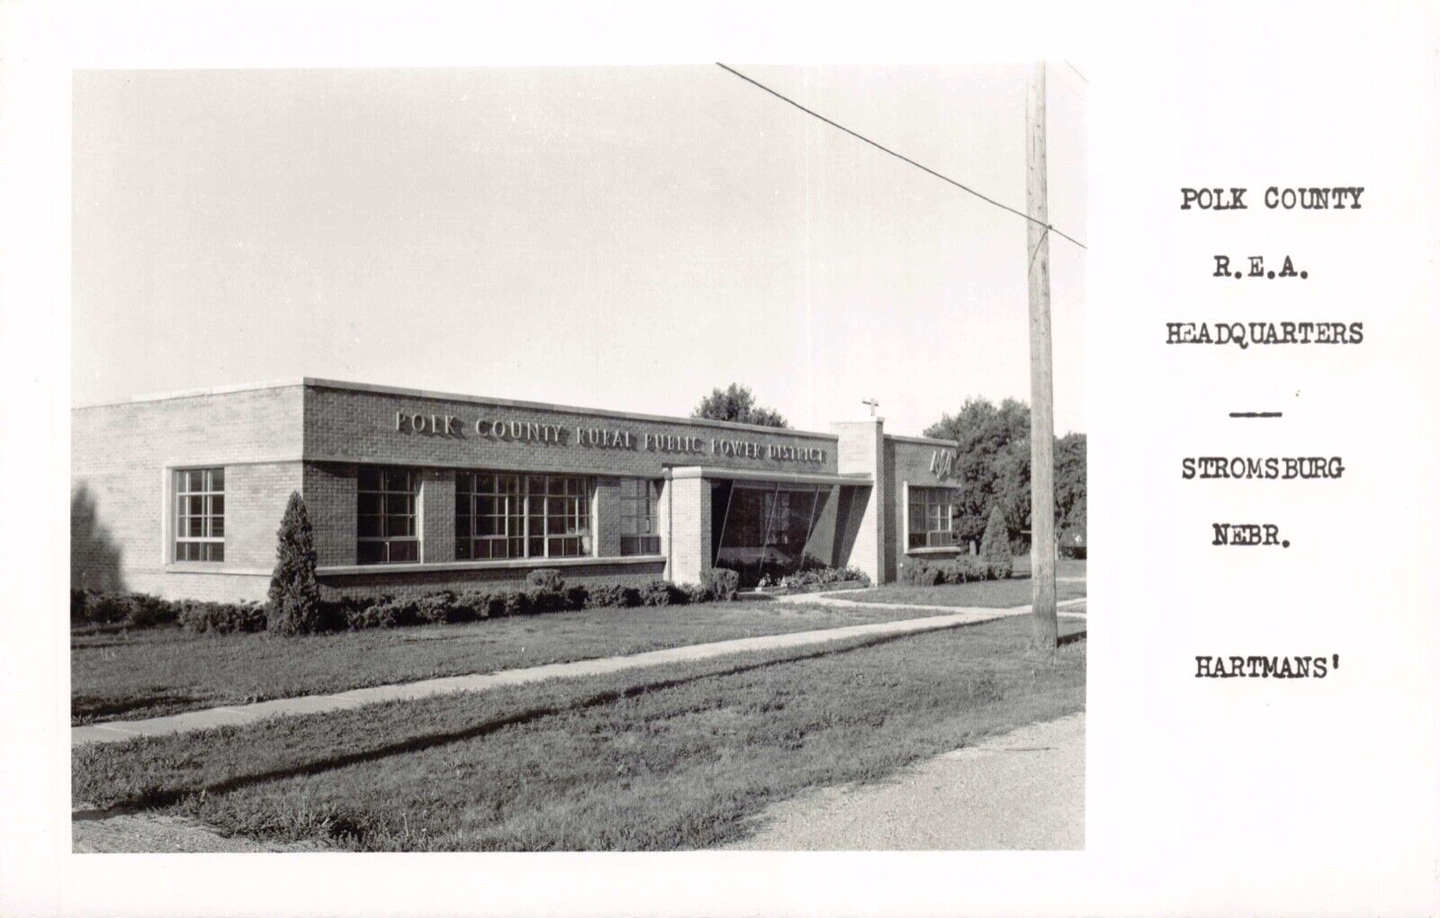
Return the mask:
<path fill-rule="evenodd" d="M 89 71 L 72 155 L 75 852 L 1084 847 L 1079 65 Z"/>

